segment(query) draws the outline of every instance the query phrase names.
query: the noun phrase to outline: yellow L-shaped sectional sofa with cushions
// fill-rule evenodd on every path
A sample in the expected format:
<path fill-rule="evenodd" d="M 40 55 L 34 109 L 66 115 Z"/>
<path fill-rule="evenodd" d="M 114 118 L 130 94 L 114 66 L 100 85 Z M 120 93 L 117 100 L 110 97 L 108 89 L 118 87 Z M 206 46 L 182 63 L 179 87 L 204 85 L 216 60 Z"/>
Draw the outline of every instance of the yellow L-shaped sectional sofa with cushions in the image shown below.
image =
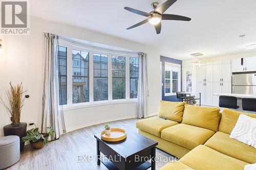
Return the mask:
<path fill-rule="evenodd" d="M 244 169 L 256 163 L 255 148 L 229 138 L 239 115 L 246 113 L 163 101 L 159 113 L 139 120 L 136 127 L 139 134 L 158 141 L 157 148 L 180 158 L 161 170 Z"/>

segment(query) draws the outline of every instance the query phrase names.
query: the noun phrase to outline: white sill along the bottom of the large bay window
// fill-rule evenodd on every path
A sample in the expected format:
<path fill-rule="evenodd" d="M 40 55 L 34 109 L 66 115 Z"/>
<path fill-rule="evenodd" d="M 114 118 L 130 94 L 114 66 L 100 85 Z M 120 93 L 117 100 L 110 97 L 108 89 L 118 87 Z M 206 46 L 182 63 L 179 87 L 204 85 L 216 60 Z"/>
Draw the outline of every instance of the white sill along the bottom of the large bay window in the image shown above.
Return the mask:
<path fill-rule="evenodd" d="M 63 111 L 81 109 L 81 108 L 87 108 L 87 107 L 95 107 L 95 106 L 125 104 L 125 103 L 137 103 L 137 99 L 101 101 L 101 102 L 93 102 L 93 103 L 88 102 L 88 103 L 65 105 L 65 106 L 63 106 Z"/>

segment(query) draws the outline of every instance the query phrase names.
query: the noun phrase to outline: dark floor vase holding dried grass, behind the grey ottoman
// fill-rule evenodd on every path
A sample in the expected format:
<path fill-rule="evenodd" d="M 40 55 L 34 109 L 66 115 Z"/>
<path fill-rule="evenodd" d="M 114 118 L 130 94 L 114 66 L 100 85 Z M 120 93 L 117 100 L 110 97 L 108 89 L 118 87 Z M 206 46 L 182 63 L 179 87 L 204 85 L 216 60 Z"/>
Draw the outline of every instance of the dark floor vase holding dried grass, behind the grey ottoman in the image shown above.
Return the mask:
<path fill-rule="evenodd" d="M 26 136 L 27 132 L 27 123 L 19 123 L 19 124 L 9 124 L 4 126 L 4 135 L 16 135 L 19 137 L 20 141 L 20 152 L 24 150 L 25 142 L 22 140 L 22 137 Z"/>

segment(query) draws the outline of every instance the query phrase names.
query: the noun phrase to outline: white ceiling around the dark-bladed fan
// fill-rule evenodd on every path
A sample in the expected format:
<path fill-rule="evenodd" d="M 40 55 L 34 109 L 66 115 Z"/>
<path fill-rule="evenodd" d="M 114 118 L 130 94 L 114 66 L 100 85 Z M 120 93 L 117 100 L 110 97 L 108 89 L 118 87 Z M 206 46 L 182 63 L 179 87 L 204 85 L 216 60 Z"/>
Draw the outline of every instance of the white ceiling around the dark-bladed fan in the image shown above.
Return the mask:
<path fill-rule="evenodd" d="M 123 7 L 150 12 L 152 2 L 154 0 L 33 0 L 30 14 L 156 45 L 161 48 L 161 55 L 177 59 L 191 58 L 189 55 L 197 52 L 203 53 L 203 57 L 215 57 L 255 51 L 242 48 L 239 38 L 245 34 L 244 44 L 256 43 L 255 0 L 178 0 L 165 13 L 187 16 L 191 21 L 164 20 L 160 35 L 150 23 L 126 30 L 145 17 Z"/>

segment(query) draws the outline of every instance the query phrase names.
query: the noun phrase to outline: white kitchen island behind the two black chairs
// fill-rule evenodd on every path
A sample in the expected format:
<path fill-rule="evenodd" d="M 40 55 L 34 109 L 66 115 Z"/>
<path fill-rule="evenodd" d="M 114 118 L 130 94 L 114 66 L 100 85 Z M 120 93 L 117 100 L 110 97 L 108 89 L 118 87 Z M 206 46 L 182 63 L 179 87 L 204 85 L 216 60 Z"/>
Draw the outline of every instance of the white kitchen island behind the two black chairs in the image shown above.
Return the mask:
<path fill-rule="evenodd" d="M 237 111 L 241 111 L 241 112 L 246 112 L 246 113 L 253 113 L 251 111 L 245 111 L 242 108 L 242 98 L 253 98 L 256 99 L 256 95 L 254 94 L 236 94 L 236 93 L 214 93 L 213 94 L 213 105 L 216 107 L 219 107 L 219 97 L 220 95 L 227 95 L 227 96 L 234 96 L 236 98 L 238 98 L 238 109 L 232 109 L 232 110 L 237 110 Z M 223 110 L 223 108 L 221 108 L 221 110 Z"/>

